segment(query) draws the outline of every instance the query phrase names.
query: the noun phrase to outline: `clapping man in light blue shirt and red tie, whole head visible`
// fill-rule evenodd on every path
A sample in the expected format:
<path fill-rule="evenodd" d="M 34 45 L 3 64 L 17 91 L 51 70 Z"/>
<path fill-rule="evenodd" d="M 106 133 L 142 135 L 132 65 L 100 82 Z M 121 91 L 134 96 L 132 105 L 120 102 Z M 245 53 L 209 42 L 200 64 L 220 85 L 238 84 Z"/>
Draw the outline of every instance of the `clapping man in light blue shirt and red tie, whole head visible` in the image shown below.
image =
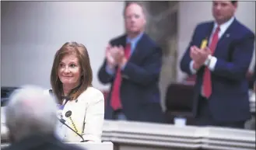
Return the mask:
<path fill-rule="evenodd" d="M 126 33 L 110 40 L 98 72 L 100 82 L 111 84 L 105 118 L 162 122 L 158 87 L 162 51 L 144 33 L 142 5 L 128 3 L 124 20 Z"/>

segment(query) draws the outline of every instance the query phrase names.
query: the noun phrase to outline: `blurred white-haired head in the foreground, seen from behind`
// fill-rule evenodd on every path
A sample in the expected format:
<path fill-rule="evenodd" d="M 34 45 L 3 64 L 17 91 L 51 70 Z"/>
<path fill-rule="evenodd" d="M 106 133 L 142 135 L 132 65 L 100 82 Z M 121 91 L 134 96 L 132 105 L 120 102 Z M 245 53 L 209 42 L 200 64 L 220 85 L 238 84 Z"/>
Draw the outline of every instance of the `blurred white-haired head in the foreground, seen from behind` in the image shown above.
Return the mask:
<path fill-rule="evenodd" d="M 5 109 L 6 125 L 11 141 L 32 134 L 54 134 L 57 124 L 55 99 L 35 85 L 16 89 Z"/>

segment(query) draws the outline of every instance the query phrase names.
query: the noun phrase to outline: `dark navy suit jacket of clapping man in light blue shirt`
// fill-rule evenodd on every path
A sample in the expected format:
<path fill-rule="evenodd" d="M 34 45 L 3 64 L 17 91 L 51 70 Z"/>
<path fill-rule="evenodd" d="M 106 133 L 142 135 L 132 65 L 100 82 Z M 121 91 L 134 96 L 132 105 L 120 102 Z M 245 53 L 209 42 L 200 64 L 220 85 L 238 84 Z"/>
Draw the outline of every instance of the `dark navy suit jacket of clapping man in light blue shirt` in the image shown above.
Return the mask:
<path fill-rule="evenodd" d="M 112 46 L 125 47 L 126 35 L 110 40 Z M 129 120 L 157 121 L 160 110 L 160 91 L 158 82 L 161 70 L 162 51 L 150 37 L 144 33 L 139 40 L 125 68 L 122 70 L 121 103 L 123 112 Z M 106 60 L 98 72 L 98 78 L 103 84 L 114 82 L 114 75 L 106 72 Z M 108 95 L 105 118 L 111 119 L 113 110 L 110 108 Z M 158 110 L 149 108 L 155 104 Z M 155 112 L 154 112 L 155 111 Z M 157 115 L 156 115 L 157 114 Z M 146 119 L 148 117 L 148 119 Z"/>

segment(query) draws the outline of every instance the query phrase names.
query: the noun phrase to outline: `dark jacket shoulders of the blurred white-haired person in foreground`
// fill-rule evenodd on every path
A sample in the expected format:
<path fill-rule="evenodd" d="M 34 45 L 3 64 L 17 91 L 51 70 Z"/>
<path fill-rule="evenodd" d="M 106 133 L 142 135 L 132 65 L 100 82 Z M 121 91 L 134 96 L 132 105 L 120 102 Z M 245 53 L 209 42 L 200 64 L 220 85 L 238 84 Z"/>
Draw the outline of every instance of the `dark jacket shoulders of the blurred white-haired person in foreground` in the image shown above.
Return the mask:
<path fill-rule="evenodd" d="M 54 135 L 32 135 L 12 143 L 3 150 L 82 150 L 82 148 L 66 145 L 55 138 Z"/>

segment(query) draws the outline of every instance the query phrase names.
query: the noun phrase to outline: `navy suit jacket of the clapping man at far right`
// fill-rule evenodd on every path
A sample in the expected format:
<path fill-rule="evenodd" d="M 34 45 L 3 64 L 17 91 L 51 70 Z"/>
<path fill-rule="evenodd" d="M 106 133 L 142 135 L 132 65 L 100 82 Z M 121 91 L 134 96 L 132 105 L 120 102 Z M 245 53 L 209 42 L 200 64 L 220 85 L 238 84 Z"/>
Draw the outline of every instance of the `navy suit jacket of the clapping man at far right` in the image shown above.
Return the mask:
<path fill-rule="evenodd" d="M 195 28 L 191 43 L 181 60 L 181 70 L 191 74 L 189 51 L 191 45 L 200 47 L 202 40 L 209 37 L 213 22 L 201 23 Z M 212 77 L 212 96 L 209 108 L 217 121 L 240 121 L 250 118 L 247 69 L 254 50 L 254 33 L 237 19 L 219 39 L 214 56 L 217 58 Z M 198 106 L 198 96 L 202 89 L 202 67 L 197 72 L 194 97 L 194 114 Z"/>

